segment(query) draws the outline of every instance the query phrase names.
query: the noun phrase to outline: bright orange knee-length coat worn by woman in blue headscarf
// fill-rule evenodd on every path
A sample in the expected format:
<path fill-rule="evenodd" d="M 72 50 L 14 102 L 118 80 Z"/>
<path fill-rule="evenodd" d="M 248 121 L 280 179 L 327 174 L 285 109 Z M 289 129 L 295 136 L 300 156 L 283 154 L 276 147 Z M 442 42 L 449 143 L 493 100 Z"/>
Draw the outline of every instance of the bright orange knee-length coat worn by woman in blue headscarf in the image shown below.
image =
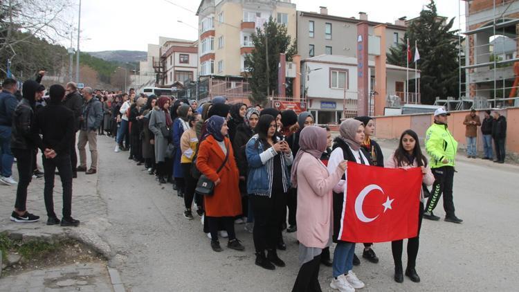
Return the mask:
<path fill-rule="evenodd" d="M 228 145 L 229 158 L 217 174 L 218 167 L 226 158 L 218 145 L 217 140 L 208 136 L 199 146 L 197 156 L 197 168 L 211 181 L 220 179 L 212 196 L 204 196 L 204 206 L 208 217 L 235 217 L 242 214 L 242 197 L 239 193 L 239 172 L 236 166 L 233 146 L 226 137 L 224 142 Z"/>

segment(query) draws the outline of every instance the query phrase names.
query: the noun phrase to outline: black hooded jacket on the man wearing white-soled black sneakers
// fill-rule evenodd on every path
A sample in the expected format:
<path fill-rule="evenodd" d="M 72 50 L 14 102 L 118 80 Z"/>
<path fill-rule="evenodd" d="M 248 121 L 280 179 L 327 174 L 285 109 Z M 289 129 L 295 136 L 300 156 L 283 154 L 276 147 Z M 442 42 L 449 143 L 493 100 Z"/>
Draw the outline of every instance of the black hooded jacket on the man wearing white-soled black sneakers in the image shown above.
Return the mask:
<path fill-rule="evenodd" d="M 35 93 L 38 82 L 27 80 L 22 89 L 23 98 L 12 115 L 11 148 L 34 149 L 43 148 L 39 133 L 32 131 L 34 122 Z M 43 149 L 42 149 L 43 151 Z"/>

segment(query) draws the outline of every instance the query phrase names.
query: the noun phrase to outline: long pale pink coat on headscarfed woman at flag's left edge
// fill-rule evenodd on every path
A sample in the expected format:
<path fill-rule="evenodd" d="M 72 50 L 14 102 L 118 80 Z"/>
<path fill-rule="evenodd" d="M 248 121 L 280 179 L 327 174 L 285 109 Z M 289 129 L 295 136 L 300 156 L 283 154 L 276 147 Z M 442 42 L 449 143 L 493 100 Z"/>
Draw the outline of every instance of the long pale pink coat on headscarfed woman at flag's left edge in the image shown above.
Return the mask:
<path fill-rule="evenodd" d="M 344 172 L 339 167 L 332 173 L 322 162 L 304 153 L 298 165 L 298 240 L 307 247 L 328 246 L 332 221 L 332 194 Z"/>

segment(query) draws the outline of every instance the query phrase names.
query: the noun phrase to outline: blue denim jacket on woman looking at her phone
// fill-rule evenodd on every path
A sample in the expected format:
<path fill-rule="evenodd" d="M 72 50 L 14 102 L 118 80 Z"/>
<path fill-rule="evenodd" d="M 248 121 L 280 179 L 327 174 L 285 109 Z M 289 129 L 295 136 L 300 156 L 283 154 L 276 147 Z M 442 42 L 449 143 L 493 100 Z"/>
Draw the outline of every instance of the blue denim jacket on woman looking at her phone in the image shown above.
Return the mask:
<path fill-rule="evenodd" d="M 275 150 L 270 147 L 263 150 L 263 145 L 258 141 L 259 136 L 255 134 L 251 140 L 248 140 L 246 145 L 245 153 L 247 156 L 248 163 L 248 176 L 247 176 L 247 193 L 248 194 L 262 194 L 270 197 L 271 185 L 268 170 L 266 167 L 267 161 L 274 158 L 277 154 Z M 276 142 L 280 138 L 276 139 Z M 293 156 L 292 152 L 289 154 L 282 154 L 283 160 L 282 165 L 284 167 L 284 184 L 285 189 L 288 190 L 290 187 L 290 172 L 288 165 L 292 165 Z"/>

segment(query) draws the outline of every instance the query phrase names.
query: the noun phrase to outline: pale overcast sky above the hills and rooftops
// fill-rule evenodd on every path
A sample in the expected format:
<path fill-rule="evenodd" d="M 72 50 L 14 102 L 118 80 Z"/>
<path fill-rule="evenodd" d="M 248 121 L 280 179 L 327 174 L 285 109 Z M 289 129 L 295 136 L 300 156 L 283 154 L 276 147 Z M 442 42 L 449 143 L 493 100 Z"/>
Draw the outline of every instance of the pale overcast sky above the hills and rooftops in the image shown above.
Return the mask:
<path fill-rule="evenodd" d="M 73 0 L 79 2 L 79 0 Z M 356 17 L 366 12 L 370 21 L 394 23 L 395 19 L 419 16 L 429 0 L 292 0 L 297 10 L 318 12 L 327 6 L 329 15 Z M 88 0 L 81 7 L 81 51 L 147 51 L 147 44 L 158 44 L 158 37 L 197 39 L 200 0 Z M 438 14 L 458 17 L 458 0 L 436 0 Z M 71 18 L 77 28 L 77 8 Z M 464 6 L 462 5 L 462 19 Z M 182 21 L 179 22 L 179 21 Z M 457 28 L 456 19 L 454 27 Z M 462 27 L 464 22 L 462 21 Z M 70 46 L 69 41 L 63 41 Z M 74 42 L 74 46 L 76 41 Z"/>

